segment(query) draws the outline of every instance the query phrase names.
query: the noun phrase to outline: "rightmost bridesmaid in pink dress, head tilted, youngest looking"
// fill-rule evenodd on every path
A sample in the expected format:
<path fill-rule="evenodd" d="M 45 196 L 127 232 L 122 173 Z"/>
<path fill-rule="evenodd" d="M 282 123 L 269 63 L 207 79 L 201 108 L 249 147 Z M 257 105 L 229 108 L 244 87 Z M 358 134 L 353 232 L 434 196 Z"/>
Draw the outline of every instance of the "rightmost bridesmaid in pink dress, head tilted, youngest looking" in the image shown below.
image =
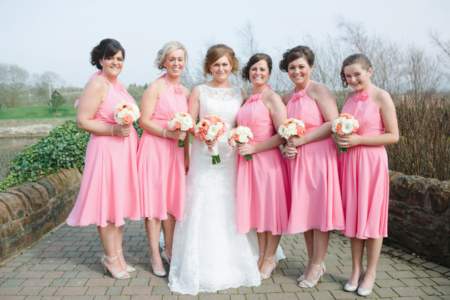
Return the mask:
<path fill-rule="evenodd" d="M 357 289 L 360 296 L 371 294 L 381 245 L 387 236 L 389 174 L 384 146 L 399 140 L 391 96 L 371 84 L 371 75 L 371 62 L 364 54 L 353 54 L 342 64 L 342 85 L 354 89 L 346 94 L 342 113 L 359 121 L 355 134 L 338 136 L 339 146 L 348 148 L 341 154 L 340 176 L 346 217 L 344 234 L 351 242 L 352 269 L 344 289 Z M 362 264 L 364 244 L 366 271 Z"/>

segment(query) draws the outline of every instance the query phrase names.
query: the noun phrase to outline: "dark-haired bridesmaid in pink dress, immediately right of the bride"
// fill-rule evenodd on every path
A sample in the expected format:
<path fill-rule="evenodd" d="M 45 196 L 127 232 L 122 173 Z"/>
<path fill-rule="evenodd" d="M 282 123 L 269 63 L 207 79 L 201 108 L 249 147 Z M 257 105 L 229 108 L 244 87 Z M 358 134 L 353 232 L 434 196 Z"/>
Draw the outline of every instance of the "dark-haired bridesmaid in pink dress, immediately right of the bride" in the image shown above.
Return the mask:
<path fill-rule="evenodd" d="M 287 228 L 291 201 L 286 164 L 279 149 L 285 140 L 276 133 L 287 119 L 287 111 L 280 96 L 267 85 L 271 70 L 269 55 L 251 56 L 242 77 L 253 85 L 253 94 L 236 116 L 237 124 L 249 127 L 254 136 L 249 143 L 238 145 L 237 230 L 246 234 L 256 229 L 262 279 L 268 279 L 278 264 L 274 256 Z M 253 154 L 253 159 L 246 161 L 246 154 Z"/>

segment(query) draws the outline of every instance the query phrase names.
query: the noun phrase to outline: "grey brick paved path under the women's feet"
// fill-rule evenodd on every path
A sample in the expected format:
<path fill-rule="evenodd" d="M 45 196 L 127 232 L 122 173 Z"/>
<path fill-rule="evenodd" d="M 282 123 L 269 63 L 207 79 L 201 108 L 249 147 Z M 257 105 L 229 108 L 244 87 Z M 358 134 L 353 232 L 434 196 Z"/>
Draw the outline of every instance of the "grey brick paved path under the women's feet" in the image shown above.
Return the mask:
<path fill-rule="evenodd" d="M 283 236 L 287 258 L 276 275 L 261 286 L 227 289 L 218 293 L 185 296 L 171 293 L 167 276 L 151 273 L 144 221 L 130 221 L 124 230 L 127 263 L 137 271 L 131 279 L 103 274 L 103 249 L 96 226 L 61 226 L 20 256 L 0 266 L 0 299 L 111 299 L 111 300 L 296 300 L 358 299 L 343 286 L 351 272 L 349 240 L 332 233 L 325 258 L 324 281 L 301 289 L 296 279 L 307 264 L 301 234 Z M 167 267 L 167 266 L 166 266 Z M 384 246 L 372 299 L 450 299 L 450 269 Z"/>

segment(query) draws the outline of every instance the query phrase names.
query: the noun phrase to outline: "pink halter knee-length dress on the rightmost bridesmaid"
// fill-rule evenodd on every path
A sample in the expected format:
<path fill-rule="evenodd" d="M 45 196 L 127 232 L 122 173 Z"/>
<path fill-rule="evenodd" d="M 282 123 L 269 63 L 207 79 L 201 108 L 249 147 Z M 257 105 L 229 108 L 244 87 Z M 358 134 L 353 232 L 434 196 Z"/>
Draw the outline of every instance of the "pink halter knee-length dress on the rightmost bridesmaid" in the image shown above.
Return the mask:
<path fill-rule="evenodd" d="M 356 93 L 344 104 L 342 114 L 359 122 L 356 134 L 379 136 L 384 124 L 370 92 Z M 389 211 L 388 159 L 384 146 L 358 145 L 341 154 L 341 191 L 346 228 L 344 234 L 358 239 L 387 236 Z"/>

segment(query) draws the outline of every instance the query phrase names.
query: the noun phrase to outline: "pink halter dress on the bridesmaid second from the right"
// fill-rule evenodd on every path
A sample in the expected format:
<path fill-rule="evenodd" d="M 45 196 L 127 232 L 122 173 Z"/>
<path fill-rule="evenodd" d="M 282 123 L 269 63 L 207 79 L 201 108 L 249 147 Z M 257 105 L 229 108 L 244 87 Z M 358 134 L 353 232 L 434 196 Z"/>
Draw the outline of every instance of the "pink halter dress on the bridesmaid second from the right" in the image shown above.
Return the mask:
<path fill-rule="evenodd" d="M 303 121 L 306 133 L 325 122 L 316 101 L 307 94 L 310 83 L 298 93 L 294 92 L 286 105 L 289 118 Z M 292 195 L 288 233 L 344 229 L 339 154 L 334 139 L 329 136 L 298 146 L 296 157 L 286 159 L 286 164 Z"/>

